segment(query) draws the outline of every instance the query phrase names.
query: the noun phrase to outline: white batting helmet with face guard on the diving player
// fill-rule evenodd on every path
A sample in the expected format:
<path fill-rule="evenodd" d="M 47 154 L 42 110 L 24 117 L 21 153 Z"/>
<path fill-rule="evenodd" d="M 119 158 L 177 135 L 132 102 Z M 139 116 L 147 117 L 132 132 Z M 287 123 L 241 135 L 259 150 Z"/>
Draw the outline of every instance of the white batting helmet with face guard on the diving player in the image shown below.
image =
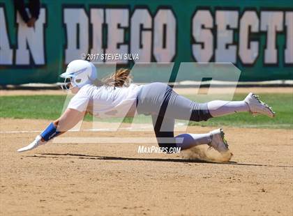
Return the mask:
<path fill-rule="evenodd" d="M 69 84 L 72 88 L 82 88 L 97 79 L 97 71 L 95 65 L 89 61 L 74 60 L 68 64 L 66 72 L 63 72 L 60 77 L 64 78 L 64 84 L 61 86 L 63 89 L 70 89 Z"/>

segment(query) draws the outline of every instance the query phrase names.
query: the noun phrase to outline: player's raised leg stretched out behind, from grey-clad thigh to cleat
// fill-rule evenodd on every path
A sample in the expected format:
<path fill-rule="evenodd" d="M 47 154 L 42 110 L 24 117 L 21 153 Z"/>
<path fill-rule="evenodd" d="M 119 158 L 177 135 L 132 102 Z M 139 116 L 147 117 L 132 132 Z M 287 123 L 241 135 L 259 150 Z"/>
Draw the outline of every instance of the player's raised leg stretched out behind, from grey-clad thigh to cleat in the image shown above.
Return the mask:
<path fill-rule="evenodd" d="M 198 103 L 175 93 L 172 88 L 167 88 L 162 107 L 167 107 L 167 118 L 183 119 L 190 121 L 206 121 L 209 118 L 235 114 L 237 112 L 250 112 L 273 117 L 275 113 L 271 107 L 260 101 L 253 93 L 241 101 L 213 100 Z"/>

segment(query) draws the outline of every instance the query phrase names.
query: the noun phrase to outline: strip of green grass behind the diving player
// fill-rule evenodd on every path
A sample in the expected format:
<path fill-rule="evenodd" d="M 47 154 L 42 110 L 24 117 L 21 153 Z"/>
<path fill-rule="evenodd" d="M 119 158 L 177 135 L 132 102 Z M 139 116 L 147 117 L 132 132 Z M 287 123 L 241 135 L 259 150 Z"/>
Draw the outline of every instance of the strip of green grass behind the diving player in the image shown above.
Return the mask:
<path fill-rule="evenodd" d="M 193 96 L 185 95 L 195 100 Z M 243 100 L 245 94 L 234 95 L 234 100 Z M 266 116 L 253 117 L 250 114 L 235 114 L 218 118 L 211 118 L 206 122 L 190 122 L 190 125 L 221 126 L 230 125 L 241 128 L 287 128 L 293 129 L 293 95 L 290 93 L 261 94 L 261 99 L 267 102 L 274 111 L 276 118 Z M 1 118 L 36 118 L 54 120 L 58 118 L 63 109 L 66 96 L 63 95 L 29 95 L 29 96 L 1 96 Z M 91 121 L 91 116 L 86 116 L 85 121 Z M 121 121 L 121 118 L 107 119 L 103 121 Z M 130 122 L 131 118 L 125 118 L 124 122 Z M 140 116 L 141 123 L 150 122 L 147 116 Z"/>

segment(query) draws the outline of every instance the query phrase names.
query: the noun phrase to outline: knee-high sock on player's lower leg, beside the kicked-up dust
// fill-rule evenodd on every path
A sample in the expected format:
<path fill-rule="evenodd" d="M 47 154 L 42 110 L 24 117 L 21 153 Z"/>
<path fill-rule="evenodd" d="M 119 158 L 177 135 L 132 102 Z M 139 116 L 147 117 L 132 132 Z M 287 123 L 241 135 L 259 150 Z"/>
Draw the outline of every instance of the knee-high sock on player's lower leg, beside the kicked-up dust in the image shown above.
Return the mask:
<path fill-rule="evenodd" d="M 182 150 L 191 148 L 193 146 L 210 144 L 211 133 L 207 134 L 179 134 L 175 137 L 176 146 L 181 147 Z"/>

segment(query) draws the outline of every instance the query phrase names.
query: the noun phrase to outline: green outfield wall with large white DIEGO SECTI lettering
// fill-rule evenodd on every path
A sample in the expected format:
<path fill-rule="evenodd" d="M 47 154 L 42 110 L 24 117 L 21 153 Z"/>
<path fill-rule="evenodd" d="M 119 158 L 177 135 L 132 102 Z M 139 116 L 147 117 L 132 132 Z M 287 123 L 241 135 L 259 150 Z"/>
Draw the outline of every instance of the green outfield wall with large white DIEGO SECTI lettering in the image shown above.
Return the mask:
<path fill-rule="evenodd" d="M 174 62 L 172 79 L 182 62 L 231 62 L 240 81 L 293 79 L 293 1 L 41 0 L 29 28 L 0 0 L 1 85 L 58 82 L 73 59 Z"/>

